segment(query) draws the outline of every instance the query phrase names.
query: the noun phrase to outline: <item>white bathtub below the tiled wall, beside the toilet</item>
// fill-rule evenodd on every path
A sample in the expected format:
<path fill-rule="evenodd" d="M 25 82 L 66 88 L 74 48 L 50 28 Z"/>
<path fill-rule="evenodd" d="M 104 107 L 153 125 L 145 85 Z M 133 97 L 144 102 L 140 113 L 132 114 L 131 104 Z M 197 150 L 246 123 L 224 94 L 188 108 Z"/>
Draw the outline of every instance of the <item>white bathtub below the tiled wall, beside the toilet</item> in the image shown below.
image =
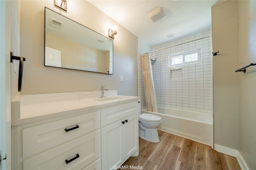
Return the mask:
<path fill-rule="evenodd" d="M 162 117 L 159 130 L 213 146 L 213 120 L 210 111 L 158 106 L 158 113 L 142 110 Z"/>

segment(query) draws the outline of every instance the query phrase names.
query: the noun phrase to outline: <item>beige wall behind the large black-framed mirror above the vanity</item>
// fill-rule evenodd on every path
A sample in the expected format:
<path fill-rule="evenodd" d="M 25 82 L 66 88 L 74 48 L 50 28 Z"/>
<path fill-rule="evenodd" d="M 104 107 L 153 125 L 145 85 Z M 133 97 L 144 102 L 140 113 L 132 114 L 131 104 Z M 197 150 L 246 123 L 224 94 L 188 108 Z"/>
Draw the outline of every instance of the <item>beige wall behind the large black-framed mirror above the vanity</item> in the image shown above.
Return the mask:
<path fill-rule="evenodd" d="M 108 90 L 118 90 L 119 95 L 137 96 L 137 37 L 122 25 L 114 39 L 113 75 L 44 66 L 44 7 L 106 37 L 114 22 L 86 0 L 68 1 L 67 12 L 53 3 L 54 0 L 21 0 L 20 55 L 26 58 L 21 94 L 99 91 L 105 85 Z"/>

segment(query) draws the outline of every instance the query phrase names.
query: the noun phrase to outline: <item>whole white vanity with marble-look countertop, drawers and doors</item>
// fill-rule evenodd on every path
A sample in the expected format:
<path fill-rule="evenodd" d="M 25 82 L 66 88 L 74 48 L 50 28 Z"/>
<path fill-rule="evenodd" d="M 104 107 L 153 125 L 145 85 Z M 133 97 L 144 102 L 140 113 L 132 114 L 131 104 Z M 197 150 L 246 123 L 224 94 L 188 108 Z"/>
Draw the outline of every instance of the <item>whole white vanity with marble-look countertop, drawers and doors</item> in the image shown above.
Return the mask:
<path fill-rule="evenodd" d="M 138 156 L 138 99 L 116 90 L 18 96 L 12 169 L 114 169 Z"/>

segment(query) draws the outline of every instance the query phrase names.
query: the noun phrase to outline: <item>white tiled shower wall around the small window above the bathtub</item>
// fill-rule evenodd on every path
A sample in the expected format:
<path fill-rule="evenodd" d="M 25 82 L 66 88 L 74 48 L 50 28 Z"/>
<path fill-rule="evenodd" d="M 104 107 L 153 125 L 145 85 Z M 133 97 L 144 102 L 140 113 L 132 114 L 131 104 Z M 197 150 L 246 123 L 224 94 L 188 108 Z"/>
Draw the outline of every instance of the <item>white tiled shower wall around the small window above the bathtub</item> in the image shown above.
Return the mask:
<path fill-rule="evenodd" d="M 150 58 L 157 59 L 152 67 L 157 104 L 204 111 L 213 110 L 211 38 L 208 36 L 210 36 L 210 30 L 153 47 L 152 49 L 138 40 L 138 96 L 142 98 L 142 108 L 146 107 L 146 103 L 141 54 L 171 47 L 150 53 Z M 203 37 L 208 38 L 200 39 Z M 193 41 L 195 39 L 200 40 Z M 186 43 L 188 41 L 192 42 Z M 181 43 L 185 44 L 178 45 Z M 168 56 L 170 54 L 198 48 L 201 48 L 201 63 L 184 65 L 181 70 L 171 70 L 168 67 Z M 181 74 L 178 79 L 171 76 L 176 72 Z"/>

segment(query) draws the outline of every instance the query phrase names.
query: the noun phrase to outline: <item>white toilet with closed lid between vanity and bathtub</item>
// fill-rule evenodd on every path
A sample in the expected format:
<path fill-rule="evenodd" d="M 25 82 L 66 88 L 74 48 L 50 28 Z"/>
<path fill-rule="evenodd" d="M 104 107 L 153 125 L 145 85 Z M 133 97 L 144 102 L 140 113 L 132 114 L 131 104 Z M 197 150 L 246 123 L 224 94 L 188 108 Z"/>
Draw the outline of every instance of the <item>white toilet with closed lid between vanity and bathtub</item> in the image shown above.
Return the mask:
<path fill-rule="evenodd" d="M 139 137 L 153 143 L 159 142 L 157 127 L 162 123 L 162 118 L 148 113 L 141 114 L 141 104 L 138 100 L 138 115 L 139 115 Z"/>

